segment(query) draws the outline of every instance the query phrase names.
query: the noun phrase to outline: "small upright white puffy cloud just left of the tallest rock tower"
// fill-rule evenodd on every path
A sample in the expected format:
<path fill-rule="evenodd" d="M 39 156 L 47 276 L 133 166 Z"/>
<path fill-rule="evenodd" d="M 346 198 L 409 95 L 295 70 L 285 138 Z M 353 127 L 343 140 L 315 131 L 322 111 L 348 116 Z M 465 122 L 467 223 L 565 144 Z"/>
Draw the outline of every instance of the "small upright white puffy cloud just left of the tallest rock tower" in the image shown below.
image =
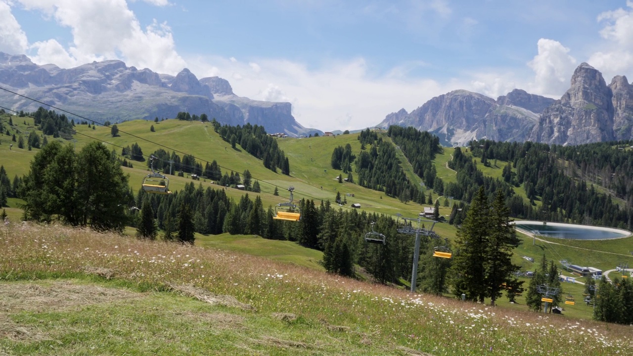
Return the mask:
<path fill-rule="evenodd" d="M 537 47 L 538 54 L 528 63 L 535 73 L 529 91 L 544 96 L 560 96 L 569 88 L 576 60 L 568 54 L 570 49 L 558 41 L 539 39 Z"/>

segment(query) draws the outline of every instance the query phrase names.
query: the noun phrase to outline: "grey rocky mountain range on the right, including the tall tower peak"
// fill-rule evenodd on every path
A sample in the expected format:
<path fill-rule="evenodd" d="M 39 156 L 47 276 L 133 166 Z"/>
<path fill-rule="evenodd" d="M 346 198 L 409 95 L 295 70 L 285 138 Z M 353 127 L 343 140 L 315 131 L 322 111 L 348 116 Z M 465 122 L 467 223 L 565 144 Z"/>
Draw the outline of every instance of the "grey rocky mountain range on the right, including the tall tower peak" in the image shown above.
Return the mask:
<path fill-rule="evenodd" d="M 598 70 L 582 63 L 558 100 L 520 89 L 496 100 L 456 90 L 410 113 L 391 113 L 378 126 L 389 125 L 430 131 L 449 146 L 471 139 L 562 145 L 633 139 L 633 86 L 622 75 L 607 86 Z"/>

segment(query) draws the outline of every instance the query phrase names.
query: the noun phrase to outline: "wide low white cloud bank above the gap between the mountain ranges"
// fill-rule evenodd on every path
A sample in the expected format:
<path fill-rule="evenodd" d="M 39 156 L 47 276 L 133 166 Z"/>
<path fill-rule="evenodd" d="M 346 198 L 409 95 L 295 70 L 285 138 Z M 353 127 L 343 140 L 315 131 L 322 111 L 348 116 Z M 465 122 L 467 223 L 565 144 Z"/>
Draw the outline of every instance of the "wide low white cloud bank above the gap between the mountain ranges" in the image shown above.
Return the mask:
<path fill-rule="evenodd" d="M 255 100 L 287 101 L 292 114 L 305 127 L 320 130 L 360 129 L 379 124 L 385 115 L 405 108 L 414 110 L 427 100 L 468 82 L 368 73 L 364 58 L 330 61 L 320 68 L 283 59 L 262 59 L 253 73 L 249 61 L 218 56 L 186 58 L 197 77 L 218 75 L 228 79 L 235 94 Z M 213 63 L 213 67 L 209 63 Z M 240 80 L 232 80 L 241 73 Z"/>

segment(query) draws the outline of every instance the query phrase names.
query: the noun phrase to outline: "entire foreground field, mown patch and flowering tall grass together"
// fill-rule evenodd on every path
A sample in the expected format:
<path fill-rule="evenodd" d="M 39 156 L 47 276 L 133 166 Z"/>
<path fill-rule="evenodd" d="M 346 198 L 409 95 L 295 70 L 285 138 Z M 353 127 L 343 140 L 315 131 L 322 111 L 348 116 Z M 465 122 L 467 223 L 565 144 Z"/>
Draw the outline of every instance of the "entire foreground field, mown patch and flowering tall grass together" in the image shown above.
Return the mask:
<path fill-rule="evenodd" d="M 630 355 L 629 326 L 410 294 L 234 251 L 0 227 L 3 355 Z"/>

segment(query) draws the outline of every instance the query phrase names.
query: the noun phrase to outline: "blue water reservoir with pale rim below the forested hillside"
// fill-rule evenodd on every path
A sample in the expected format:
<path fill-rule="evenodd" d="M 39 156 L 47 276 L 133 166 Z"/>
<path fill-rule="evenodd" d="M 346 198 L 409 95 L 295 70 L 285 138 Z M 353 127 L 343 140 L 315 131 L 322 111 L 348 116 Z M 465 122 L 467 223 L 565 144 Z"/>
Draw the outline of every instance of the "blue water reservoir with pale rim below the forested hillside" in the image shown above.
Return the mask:
<path fill-rule="evenodd" d="M 563 224 L 560 222 L 515 221 L 515 226 L 517 230 L 529 232 L 536 236 L 558 239 L 605 240 L 626 238 L 631 235 L 630 231 L 613 227 Z"/>

